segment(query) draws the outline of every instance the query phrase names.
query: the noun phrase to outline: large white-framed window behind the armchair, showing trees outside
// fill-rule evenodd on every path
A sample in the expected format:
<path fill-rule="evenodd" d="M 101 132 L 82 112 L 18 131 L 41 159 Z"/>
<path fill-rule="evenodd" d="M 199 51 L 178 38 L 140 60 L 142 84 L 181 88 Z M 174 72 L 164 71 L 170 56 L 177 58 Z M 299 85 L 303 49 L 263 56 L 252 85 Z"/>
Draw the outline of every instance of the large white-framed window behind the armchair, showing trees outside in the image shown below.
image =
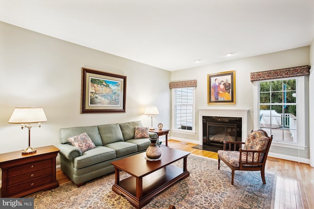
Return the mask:
<path fill-rule="evenodd" d="M 304 76 L 257 81 L 257 89 L 257 124 L 272 145 L 304 149 Z"/>

